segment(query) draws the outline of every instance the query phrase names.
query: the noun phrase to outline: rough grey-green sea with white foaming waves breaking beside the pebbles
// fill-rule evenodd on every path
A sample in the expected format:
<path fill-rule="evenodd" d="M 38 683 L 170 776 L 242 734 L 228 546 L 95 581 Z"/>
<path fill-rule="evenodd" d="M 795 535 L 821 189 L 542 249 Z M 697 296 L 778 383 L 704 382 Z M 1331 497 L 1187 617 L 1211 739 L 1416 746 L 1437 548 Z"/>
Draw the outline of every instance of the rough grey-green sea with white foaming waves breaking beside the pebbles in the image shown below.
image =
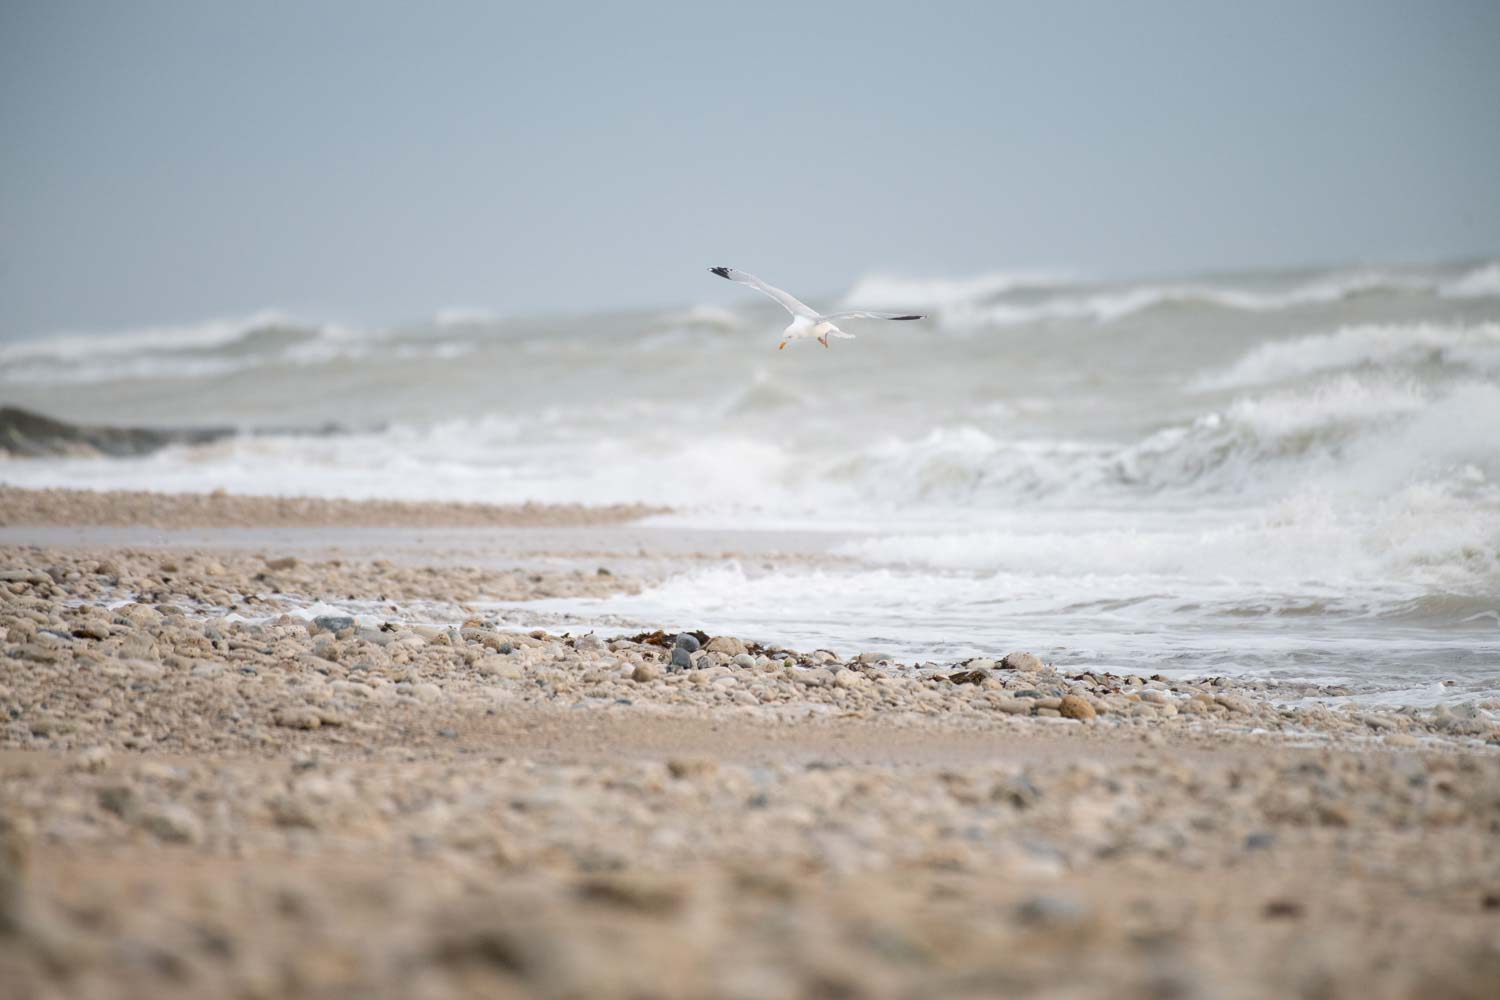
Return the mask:
<path fill-rule="evenodd" d="M 261 433 L 0 460 L 0 480 L 646 501 L 666 523 L 838 532 L 837 558 L 552 610 L 1406 700 L 1500 690 L 1500 262 L 868 277 L 808 298 L 933 318 L 780 352 L 774 303 L 692 282 L 734 304 L 3 345 L 0 402 Z"/>

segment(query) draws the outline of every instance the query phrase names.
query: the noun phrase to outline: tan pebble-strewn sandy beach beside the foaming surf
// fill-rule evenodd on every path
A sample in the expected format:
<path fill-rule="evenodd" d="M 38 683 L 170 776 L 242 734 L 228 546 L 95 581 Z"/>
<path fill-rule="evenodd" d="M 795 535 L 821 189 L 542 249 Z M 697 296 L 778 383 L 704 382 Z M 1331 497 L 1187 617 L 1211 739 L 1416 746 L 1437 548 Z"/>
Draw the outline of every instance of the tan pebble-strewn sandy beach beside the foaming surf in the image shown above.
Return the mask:
<path fill-rule="evenodd" d="M 555 544 L 645 511 L 0 501 L 10 996 L 1488 997 L 1500 979 L 1494 705 L 1024 649 L 912 664 L 518 631 L 486 601 L 644 580 L 546 546 L 502 568 L 212 544 L 298 519 Z M 184 546 L 164 511 L 190 510 Z M 124 532 L 45 534 L 90 525 Z M 388 618 L 314 613 L 350 598 Z M 458 610 L 412 624 L 412 606 Z"/>

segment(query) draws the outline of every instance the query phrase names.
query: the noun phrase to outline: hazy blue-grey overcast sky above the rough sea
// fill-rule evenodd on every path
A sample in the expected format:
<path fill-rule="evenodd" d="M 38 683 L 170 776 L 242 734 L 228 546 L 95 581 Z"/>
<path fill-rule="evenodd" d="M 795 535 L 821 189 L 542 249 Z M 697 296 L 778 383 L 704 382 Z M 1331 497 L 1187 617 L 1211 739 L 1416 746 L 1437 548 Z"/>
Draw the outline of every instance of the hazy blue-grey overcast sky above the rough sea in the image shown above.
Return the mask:
<path fill-rule="evenodd" d="M 1496 252 L 1494 0 L 0 0 L 0 336 Z"/>

